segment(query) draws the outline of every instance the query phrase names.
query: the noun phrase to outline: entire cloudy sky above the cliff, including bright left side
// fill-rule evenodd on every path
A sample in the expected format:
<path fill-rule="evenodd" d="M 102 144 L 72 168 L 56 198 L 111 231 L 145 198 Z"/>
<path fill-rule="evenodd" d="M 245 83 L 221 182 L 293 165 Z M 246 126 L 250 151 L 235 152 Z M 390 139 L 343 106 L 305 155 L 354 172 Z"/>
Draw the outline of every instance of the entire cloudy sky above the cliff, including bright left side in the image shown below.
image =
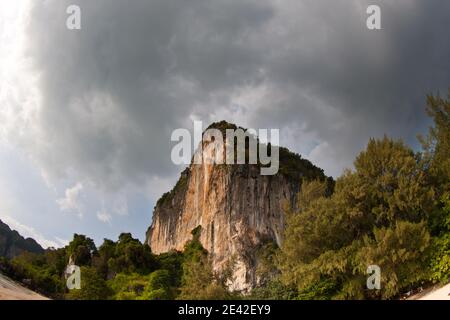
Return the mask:
<path fill-rule="evenodd" d="M 381 30 L 366 9 L 381 8 Z M 81 30 L 66 12 L 81 8 Z M 44 247 L 144 240 L 176 128 L 227 120 L 338 177 L 371 137 L 418 148 L 450 86 L 446 0 L 0 2 L 0 219 Z"/>

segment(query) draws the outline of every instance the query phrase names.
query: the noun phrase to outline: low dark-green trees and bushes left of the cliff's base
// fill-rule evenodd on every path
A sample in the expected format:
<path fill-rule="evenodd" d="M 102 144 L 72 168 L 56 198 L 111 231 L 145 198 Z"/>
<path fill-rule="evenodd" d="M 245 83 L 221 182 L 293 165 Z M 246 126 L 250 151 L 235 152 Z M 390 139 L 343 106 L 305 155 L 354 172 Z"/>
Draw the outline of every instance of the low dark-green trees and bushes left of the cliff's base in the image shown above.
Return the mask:
<path fill-rule="evenodd" d="M 150 247 L 122 233 L 97 249 L 92 239 L 75 234 L 68 246 L 44 254 L 23 253 L 0 259 L 0 271 L 54 299 L 168 300 L 229 299 L 227 277 L 215 274 L 199 237 L 201 227 L 183 252 L 152 254 Z M 66 289 L 67 264 L 81 267 L 81 289 Z"/>

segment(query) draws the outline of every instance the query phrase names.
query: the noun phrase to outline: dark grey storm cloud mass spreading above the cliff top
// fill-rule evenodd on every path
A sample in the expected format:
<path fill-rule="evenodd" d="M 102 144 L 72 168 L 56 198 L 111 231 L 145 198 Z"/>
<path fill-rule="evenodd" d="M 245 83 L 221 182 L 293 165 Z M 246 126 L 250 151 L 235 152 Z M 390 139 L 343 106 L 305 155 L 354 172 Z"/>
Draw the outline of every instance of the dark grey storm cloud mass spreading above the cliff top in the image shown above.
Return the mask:
<path fill-rule="evenodd" d="M 279 127 L 338 174 L 370 136 L 413 141 L 424 95 L 450 85 L 450 2 L 382 1 L 383 30 L 369 31 L 372 2 L 35 1 L 28 148 L 53 174 L 115 188 L 175 172 L 170 133 L 191 116 L 225 118 Z M 69 4 L 80 31 L 65 28 Z"/>

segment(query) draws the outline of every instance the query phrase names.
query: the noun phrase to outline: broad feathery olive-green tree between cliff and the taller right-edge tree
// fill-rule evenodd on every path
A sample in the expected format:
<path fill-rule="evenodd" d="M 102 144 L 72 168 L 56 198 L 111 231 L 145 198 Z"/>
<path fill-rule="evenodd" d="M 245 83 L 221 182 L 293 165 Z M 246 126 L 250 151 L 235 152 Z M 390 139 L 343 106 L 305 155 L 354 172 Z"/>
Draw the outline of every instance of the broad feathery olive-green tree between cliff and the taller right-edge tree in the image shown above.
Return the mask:
<path fill-rule="evenodd" d="M 327 197 L 304 182 L 303 203 L 287 214 L 278 266 L 299 298 L 391 298 L 423 281 L 433 204 L 421 158 L 401 141 L 371 139 Z M 368 265 L 382 268 L 380 291 L 366 290 Z M 386 279 L 386 278 L 384 278 Z"/>

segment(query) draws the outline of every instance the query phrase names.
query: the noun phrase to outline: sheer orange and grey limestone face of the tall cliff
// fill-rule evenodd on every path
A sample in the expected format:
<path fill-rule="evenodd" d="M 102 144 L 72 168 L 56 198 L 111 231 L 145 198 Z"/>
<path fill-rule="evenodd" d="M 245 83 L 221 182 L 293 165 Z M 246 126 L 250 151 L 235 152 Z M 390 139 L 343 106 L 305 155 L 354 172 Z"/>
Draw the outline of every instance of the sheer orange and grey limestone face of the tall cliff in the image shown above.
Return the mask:
<path fill-rule="evenodd" d="M 216 147 L 204 143 L 203 159 L 214 159 Z M 289 170 L 296 168 L 305 172 L 290 177 Z M 191 164 L 158 201 L 147 243 L 156 254 L 183 250 L 191 231 L 201 226 L 200 241 L 214 270 L 233 257 L 230 289 L 248 291 L 258 281 L 257 249 L 268 241 L 281 244 L 283 206 L 295 205 L 301 177 L 325 178 L 322 170 L 286 149 L 280 149 L 280 172 L 273 176 L 261 175 L 258 165 Z"/>

